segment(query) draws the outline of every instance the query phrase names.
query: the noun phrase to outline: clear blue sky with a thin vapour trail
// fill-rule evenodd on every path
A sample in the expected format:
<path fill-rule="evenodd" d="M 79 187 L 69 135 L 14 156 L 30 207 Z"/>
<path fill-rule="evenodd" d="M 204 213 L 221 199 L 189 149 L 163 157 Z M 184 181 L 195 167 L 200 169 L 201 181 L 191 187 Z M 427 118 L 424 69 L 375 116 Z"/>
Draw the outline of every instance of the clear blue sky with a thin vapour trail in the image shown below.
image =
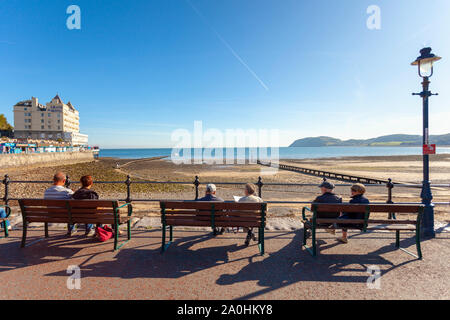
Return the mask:
<path fill-rule="evenodd" d="M 71 4 L 81 30 L 66 27 Z M 278 129 L 281 146 L 420 134 L 409 64 L 427 45 L 443 57 L 430 132 L 449 133 L 449 13 L 448 0 L 0 0 L 0 113 L 59 93 L 103 148 L 170 147 L 196 120 Z"/>

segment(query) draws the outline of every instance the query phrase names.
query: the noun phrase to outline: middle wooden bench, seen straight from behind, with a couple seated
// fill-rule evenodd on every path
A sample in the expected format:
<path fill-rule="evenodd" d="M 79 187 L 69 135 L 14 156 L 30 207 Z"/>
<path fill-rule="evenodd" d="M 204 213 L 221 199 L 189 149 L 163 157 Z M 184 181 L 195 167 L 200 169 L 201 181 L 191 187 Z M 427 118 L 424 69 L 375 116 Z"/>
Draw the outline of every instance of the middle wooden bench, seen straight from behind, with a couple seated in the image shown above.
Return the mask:
<path fill-rule="evenodd" d="M 264 255 L 264 228 L 266 226 L 266 203 L 160 201 L 163 253 L 173 241 L 173 227 L 195 226 L 258 228 L 258 247 Z M 169 227 L 169 242 L 166 230 Z M 215 234 L 215 233 L 214 233 Z"/>

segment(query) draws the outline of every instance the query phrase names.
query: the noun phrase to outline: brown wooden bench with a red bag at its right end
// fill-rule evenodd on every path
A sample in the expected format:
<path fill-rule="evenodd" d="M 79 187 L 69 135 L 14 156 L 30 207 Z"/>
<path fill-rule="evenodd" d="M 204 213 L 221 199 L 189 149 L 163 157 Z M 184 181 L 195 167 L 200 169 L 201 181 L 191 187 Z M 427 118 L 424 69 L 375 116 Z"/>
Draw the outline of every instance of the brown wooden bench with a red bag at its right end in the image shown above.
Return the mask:
<path fill-rule="evenodd" d="M 23 219 L 22 248 L 25 247 L 27 227 L 31 222 L 44 223 L 46 238 L 49 236 L 49 223 L 108 224 L 115 230 L 119 230 L 120 224 L 127 223 L 128 240 L 131 239 L 130 221 L 133 207 L 130 203 L 119 206 L 118 201 L 113 200 L 20 199 L 19 205 Z M 126 215 L 120 212 L 120 209 L 125 206 L 128 208 Z M 118 241 L 119 233 L 114 232 L 114 250 L 120 249 L 127 242 L 118 247 Z"/>

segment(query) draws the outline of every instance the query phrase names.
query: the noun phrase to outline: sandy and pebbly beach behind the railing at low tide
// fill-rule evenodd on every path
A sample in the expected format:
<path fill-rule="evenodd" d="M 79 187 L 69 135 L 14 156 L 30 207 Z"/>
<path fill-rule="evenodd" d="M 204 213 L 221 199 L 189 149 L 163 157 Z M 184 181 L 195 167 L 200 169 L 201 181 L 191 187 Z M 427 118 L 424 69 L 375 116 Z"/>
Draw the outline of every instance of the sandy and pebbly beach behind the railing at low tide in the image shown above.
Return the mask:
<path fill-rule="evenodd" d="M 282 163 L 296 164 L 302 167 L 311 167 L 335 172 L 351 173 L 374 178 L 392 178 L 396 182 L 420 183 L 421 158 L 418 156 L 386 156 L 386 157 L 358 157 L 335 159 L 306 159 L 282 160 Z M 119 168 L 117 168 L 119 164 Z M 96 181 L 125 181 L 127 175 L 133 182 L 139 181 L 176 181 L 187 184 L 132 184 L 133 199 L 179 199 L 192 200 L 195 198 L 193 185 L 195 176 L 199 176 L 202 183 L 199 188 L 200 195 L 204 193 L 204 184 L 213 182 L 217 184 L 218 195 L 225 200 L 232 200 L 233 196 L 241 196 L 242 185 L 220 185 L 219 182 L 256 183 L 262 177 L 266 185 L 262 189 L 262 197 L 266 201 L 312 201 L 318 194 L 318 185 L 322 178 L 308 176 L 300 173 L 279 170 L 267 174 L 259 165 L 176 165 L 167 159 L 113 159 L 101 158 L 89 163 L 80 163 L 62 166 L 28 167 L 14 169 L 0 169 L 3 176 L 8 174 L 13 181 L 42 180 L 49 181 L 55 171 L 67 173 L 71 181 L 78 181 L 84 174 L 90 174 Z M 431 158 L 432 182 L 448 183 L 450 180 L 450 155 L 435 155 Z M 336 184 L 343 183 L 333 181 Z M 312 186 L 271 186 L 270 183 L 300 183 Z M 47 183 L 23 184 L 13 183 L 10 186 L 10 197 L 40 197 L 47 187 Z M 76 189 L 77 184 L 71 188 Z M 1 194 L 4 194 L 1 186 Z M 101 198 L 126 198 L 125 183 L 95 184 L 95 190 Z M 336 193 L 344 201 L 349 200 L 349 187 L 337 187 Z M 394 202 L 420 202 L 420 188 L 395 187 L 393 190 Z M 435 202 L 449 202 L 449 188 L 434 188 Z M 372 202 L 386 202 L 387 188 L 380 185 L 370 187 L 367 197 Z M 12 203 L 14 205 L 14 202 Z M 137 216 L 159 215 L 157 202 L 135 202 Z M 297 217 L 302 205 L 300 204 L 271 204 L 269 216 Z M 449 206 L 436 207 L 436 219 L 442 222 L 450 220 Z"/>

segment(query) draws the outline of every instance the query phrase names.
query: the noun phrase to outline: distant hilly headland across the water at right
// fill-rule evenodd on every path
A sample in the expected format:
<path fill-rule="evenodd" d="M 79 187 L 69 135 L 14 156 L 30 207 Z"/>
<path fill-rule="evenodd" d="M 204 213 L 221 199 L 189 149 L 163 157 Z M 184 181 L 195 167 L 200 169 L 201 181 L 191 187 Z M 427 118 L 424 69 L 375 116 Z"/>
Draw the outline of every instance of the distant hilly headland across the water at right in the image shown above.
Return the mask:
<path fill-rule="evenodd" d="M 430 143 L 450 145 L 450 133 L 430 135 Z M 332 137 L 309 137 L 294 141 L 289 147 L 414 147 L 422 146 L 422 136 L 391 134 L 372 139 L 341 140 Z"/>

